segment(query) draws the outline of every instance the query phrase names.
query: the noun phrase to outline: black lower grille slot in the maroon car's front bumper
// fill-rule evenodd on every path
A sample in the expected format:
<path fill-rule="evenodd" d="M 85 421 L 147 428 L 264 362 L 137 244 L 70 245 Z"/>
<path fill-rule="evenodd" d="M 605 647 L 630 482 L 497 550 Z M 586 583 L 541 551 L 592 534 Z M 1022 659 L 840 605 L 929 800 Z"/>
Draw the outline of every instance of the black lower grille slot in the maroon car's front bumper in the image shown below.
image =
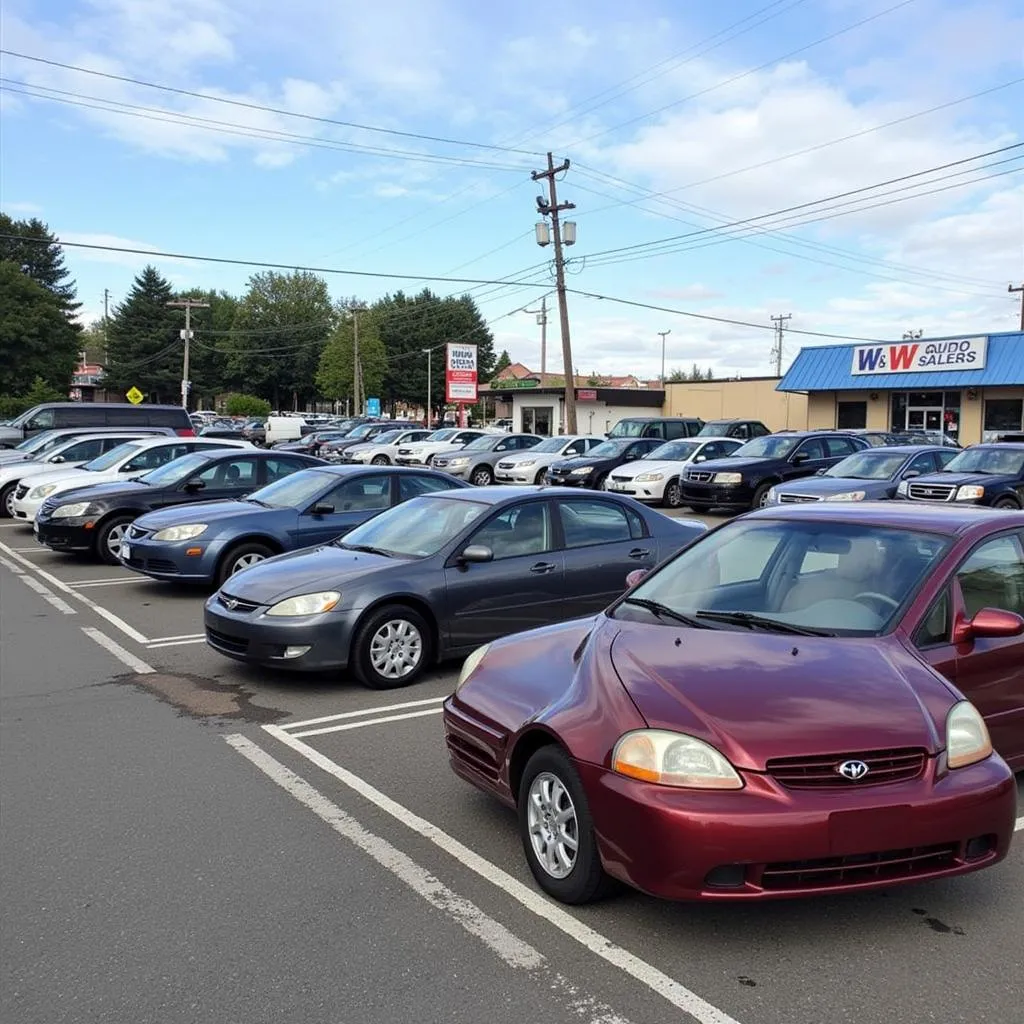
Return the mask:
<path fill-rule="evenodd" d="M 761 885 L 764 889 L 825 889 L 910 879 L 952 867 L 956 851 L 955 843 L 944 843 L 820 860 L 782 861 L 765 865 Z"/>

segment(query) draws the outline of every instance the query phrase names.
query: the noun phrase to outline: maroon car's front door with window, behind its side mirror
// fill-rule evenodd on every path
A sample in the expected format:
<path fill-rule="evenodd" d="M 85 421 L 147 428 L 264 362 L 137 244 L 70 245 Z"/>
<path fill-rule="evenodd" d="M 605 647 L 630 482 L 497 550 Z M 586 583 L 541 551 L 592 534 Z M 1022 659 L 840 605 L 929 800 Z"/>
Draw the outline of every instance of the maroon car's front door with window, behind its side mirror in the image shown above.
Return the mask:
<path fill-rule="evenodd" d="M 1024 635 L 952 642 L 958 610 L 995 607 L 1024 615 L 1024 531 L 982 541 L 961 562 L 914 635 L 921 656 L 981 712 L 1004 757 L 1024 758 Z M 1021 767 L 1020 764 L 1017 767 Z"/>

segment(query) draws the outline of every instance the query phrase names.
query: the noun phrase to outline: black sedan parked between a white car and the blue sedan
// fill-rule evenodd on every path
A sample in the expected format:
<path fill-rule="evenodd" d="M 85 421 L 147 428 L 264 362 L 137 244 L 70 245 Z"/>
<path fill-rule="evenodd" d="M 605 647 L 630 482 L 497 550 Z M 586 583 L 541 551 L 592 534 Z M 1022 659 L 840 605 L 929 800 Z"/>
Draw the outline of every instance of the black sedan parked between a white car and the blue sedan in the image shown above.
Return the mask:
<path fill-rule="evenodd" d="M 54 495 L 36 514 L 36 539 L 54 551 L 87 551 L 118 565 L 128 526 L 145 512 L 242 498 L 297 470 L 322 465 L 319 459 L 297 452 L 194 452 L 134 480 L 95 483 Z"/>

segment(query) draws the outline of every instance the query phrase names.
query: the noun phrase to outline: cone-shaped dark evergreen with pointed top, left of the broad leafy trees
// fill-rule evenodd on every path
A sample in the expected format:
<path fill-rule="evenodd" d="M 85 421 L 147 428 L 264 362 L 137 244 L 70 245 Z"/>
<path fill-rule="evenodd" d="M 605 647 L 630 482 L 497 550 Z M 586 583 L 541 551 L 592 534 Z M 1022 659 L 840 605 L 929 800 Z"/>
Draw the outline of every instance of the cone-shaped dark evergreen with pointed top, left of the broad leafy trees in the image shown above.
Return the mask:
<path fill-rule="evenodd" d="M 180 312 L 167 305 L 172 297 L 171 286 L 147 266 L 115 308 L 103 379 L 110 390 L 137 387 L 154 401 L 180 400 L 183 325 Z"/>

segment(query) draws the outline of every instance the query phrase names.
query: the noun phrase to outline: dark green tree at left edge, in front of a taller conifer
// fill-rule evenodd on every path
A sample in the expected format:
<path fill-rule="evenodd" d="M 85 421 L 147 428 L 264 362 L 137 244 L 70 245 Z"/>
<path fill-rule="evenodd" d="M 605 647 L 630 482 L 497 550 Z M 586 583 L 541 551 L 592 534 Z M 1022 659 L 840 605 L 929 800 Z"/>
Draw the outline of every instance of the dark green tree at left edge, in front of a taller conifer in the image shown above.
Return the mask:
<path fill-rule="evenodd" d="M 0 394 L 24 394 L 39 379 L 67 398 L 78 341 L 61 300 L 14 263 L 0 263 Z"/>

